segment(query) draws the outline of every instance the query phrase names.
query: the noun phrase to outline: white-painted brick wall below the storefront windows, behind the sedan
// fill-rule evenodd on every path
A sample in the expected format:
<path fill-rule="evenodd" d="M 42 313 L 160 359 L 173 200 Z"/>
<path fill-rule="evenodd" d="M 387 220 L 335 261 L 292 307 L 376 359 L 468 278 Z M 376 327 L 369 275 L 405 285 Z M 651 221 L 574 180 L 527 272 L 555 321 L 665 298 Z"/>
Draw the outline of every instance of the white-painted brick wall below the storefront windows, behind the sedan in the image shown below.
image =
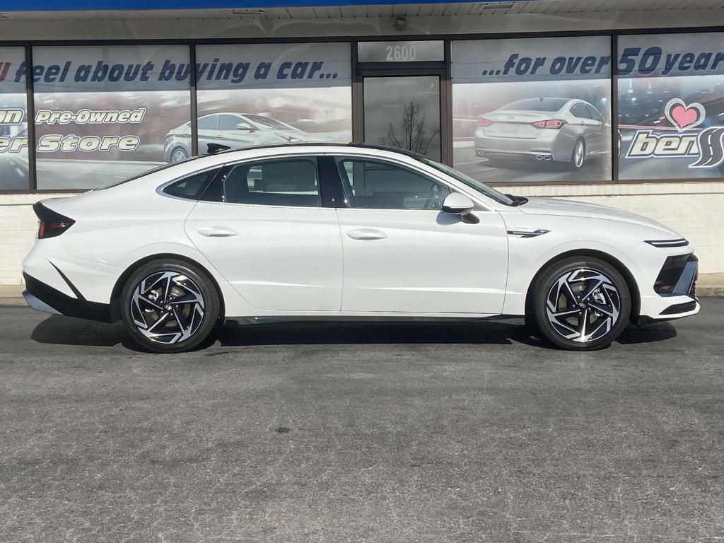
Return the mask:
<path fill-rule="evenodd" d="M 724 273 L 724 182 L 510 185 L 497 189 L 518 195 L 600 203 L 651 217 L 681 232 L 696 245 L 700 271 Z M 22 282 L 22 259 L 33 246 L 38 228 L 33 203 L 66 195 L 0 195 L 0 285 Z"/>

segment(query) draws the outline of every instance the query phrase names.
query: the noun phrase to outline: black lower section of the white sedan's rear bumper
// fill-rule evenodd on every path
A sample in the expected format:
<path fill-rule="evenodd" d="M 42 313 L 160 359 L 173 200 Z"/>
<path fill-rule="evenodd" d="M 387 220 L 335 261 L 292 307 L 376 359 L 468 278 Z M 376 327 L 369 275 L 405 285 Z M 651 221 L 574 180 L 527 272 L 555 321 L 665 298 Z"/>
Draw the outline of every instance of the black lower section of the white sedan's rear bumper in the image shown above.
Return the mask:
<path fill-rule="evenodd" d="M 72 298 L 27 273 L 23 273 L 22 277 L 25 279 L 25 291 L 22 292 L 22 297 L 31 308 L 54 315 L 111 322 L 111 308 L 108 304 L 89 302 L 82 296 Z"/>

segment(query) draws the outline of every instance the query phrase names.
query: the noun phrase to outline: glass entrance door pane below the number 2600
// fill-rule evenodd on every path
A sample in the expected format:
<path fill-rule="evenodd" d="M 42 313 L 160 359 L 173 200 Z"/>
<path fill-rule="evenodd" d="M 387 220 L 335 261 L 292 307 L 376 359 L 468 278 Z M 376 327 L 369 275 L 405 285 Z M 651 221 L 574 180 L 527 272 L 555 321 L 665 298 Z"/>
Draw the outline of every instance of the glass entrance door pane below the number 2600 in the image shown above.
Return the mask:
<path fill-rule="evenodd" d="M 363 77 L 364 140 L 439 161 L 439 75 Z"/>

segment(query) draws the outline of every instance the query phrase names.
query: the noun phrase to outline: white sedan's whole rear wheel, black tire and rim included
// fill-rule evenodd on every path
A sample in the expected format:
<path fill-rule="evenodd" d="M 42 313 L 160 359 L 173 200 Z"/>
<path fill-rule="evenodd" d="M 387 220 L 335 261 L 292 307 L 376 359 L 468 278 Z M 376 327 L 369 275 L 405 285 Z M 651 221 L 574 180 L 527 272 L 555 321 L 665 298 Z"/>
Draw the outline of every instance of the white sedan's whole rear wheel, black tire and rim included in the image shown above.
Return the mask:
<path fill-rule="evenodd" d="M 121 293 L 123 324 L 133 342 L 151 353 L 182 353 L 202 345 L 214 332 L 220 308 L 219 292 L 206 272 L 179 260 L 144 264 Z"/>

